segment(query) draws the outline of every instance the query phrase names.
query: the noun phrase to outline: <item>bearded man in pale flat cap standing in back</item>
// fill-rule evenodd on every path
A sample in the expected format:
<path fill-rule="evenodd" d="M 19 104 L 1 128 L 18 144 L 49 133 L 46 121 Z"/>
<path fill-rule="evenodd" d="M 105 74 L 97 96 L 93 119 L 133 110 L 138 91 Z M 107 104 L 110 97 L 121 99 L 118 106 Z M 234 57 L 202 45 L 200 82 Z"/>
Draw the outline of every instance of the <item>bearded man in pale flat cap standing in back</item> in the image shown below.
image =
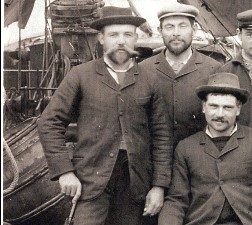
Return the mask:
<path fill-rule="evenodd" d="M 209 75 L 221 66 L 191 46 L 197 30 L 197 15 L 197 8 L 180 3 L 161 9 L 159 32 L 166 48 L 140 63 L 145 73 L 156 74 L 159 78 L 168 116 L 174 121 L 174 146 L 205 126 L 200 102 L 193 90 L 206 83 Z"/>

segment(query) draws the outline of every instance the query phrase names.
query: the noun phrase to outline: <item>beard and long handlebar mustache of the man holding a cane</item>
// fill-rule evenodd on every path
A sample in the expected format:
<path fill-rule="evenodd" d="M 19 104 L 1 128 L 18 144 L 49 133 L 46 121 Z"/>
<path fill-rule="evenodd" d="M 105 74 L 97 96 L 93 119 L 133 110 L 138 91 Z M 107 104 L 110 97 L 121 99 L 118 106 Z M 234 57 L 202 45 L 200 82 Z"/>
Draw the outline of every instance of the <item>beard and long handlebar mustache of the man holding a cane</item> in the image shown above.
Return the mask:
<path fill-rule="evenodd" d="M 117 65 L 123 65 L 131 57 L 136 56 L 139 53 L 129 48 L 128 46 L 124 45 L 122 47 L 116 46 L 114 48 L 108 49 L 108 51 L 106 51 L 105 54 L 109 57 L 109 59 L 113 63 Z"/>

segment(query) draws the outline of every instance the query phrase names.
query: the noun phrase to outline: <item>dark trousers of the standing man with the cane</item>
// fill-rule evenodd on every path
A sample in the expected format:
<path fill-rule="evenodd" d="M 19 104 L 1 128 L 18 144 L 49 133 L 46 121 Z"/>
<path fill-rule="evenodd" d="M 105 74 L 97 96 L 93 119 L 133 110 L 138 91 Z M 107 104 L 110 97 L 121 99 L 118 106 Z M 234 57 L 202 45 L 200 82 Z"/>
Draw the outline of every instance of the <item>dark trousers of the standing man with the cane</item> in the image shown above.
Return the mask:
<path fill-rule="evenodd" d="M 118 154 L 111 178 L 104 192 L 90 201 L 79 201 L 74 225 L 146 225 L 149 218 L 142 216 L 143 203 L 130 197 L 127 152 Z"/>

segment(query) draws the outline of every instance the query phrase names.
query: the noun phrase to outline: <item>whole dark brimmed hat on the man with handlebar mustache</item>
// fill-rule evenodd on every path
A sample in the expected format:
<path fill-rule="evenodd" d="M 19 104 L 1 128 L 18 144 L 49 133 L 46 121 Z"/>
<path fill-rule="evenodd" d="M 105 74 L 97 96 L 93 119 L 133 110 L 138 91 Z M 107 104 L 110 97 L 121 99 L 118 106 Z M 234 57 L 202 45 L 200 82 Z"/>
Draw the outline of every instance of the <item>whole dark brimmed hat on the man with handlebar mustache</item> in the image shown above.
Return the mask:
<path fill-rule="evenodd" d="M 146 22 L 144 18 L 133 16 L 130 8 L 105 6 L 101 9 L 101 17 L 93 21 L 90 27 L 96 30 L 111 24 L 131 24 L 138 27 L 144 22 Z"/>

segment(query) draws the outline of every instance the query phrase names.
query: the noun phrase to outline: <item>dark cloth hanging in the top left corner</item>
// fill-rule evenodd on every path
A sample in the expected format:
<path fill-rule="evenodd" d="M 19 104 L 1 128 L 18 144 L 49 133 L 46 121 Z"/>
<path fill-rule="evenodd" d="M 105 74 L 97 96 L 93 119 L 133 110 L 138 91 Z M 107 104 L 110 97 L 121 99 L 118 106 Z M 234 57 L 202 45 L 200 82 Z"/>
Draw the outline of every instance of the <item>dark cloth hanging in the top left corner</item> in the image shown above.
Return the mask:
<path fill-rule="evenodd" d="M 5 0 L 4 1 L 4 26 L 8 26 L 18 21 L 18 26 L 24 29 L 35 0 Z"/>

